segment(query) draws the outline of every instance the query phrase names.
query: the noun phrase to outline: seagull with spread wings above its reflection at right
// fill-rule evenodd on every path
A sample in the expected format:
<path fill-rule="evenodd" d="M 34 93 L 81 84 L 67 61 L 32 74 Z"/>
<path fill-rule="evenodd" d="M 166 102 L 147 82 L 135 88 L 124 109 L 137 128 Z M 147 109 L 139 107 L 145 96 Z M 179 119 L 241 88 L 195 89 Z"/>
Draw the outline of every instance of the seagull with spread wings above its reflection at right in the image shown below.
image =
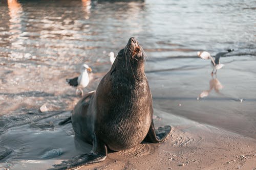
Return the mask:
<path fill-rule="evenodd" d="M 211 57 L 209 52 L 197 52 L 197 55 L 198 55 L 198 57 L 200 57 L 204 60 L 210 59 L 211 64 L 214 67 L 214 70 L 212 70 L 211 74 L 214 74 L 214 73 L 216 74 L 217 69 L 221 69 L 224 66 L 224 64 L 220 63 L 220 57 L 224 56 L 225 54 L 230 53 L 232 51 L 234 51 L 234 50 L 228 49 L 227 52 L 218 53 L 218 54 L 216 54 L 215 59 L 213 57 Z"/>

